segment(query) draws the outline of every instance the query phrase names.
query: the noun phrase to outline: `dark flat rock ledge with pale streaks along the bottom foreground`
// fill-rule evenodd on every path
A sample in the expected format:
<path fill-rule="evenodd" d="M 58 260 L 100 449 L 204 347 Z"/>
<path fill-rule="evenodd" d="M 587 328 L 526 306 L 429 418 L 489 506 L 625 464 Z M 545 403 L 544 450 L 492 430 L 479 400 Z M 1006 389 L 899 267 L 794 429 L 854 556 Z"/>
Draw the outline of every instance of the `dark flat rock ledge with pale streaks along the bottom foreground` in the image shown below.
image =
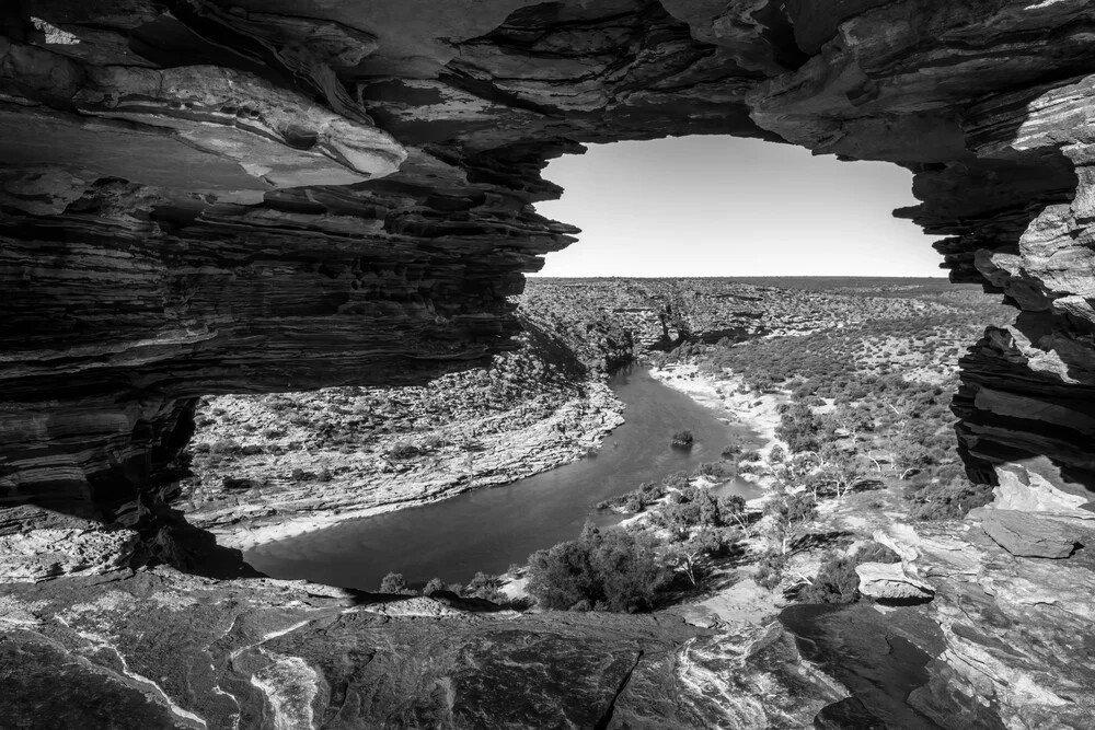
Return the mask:
<path fill-rule="evenodd" d="M 777 629 L 742 646 L 671 616 L 470 612 L 163 568 L 111 578 L 0 596 L 7 725 L 804 727 L 839 697 Z"/>

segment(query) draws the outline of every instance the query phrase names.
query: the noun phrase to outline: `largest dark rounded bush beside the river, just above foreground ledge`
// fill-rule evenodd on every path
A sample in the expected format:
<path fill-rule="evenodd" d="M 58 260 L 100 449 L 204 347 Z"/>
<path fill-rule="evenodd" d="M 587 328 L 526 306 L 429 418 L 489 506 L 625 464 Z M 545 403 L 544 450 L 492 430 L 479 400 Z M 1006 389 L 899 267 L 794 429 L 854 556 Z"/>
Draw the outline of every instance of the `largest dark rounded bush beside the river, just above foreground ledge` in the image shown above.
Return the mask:
<path fill-rule="evenodd" d="M 649 535 L 587 523 L 578 540 L 529 556 L 529 594 L 545 609 L 634 613 L 654 607 L 671 573 Z"/>

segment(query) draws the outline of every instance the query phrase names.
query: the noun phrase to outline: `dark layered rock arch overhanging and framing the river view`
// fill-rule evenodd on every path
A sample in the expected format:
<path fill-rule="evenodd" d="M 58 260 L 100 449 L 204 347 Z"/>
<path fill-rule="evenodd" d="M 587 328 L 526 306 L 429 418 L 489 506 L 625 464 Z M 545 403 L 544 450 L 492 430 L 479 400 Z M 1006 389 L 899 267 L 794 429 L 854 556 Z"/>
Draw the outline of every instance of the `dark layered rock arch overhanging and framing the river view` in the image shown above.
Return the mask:
<path fill-rule="evenodd" d="M 1087 2 L 0 12 L 4 502 L 146 529 L 195 396 L 422 382 L 509 347 L 506 297 L 575 232 L 530 207 L 561 194 L 546 160 L 688 134 L 913 170 L 899 213 L 1019 310 L 964 361 L 971 472 L 1045 454 L 1092 484 Z"/>

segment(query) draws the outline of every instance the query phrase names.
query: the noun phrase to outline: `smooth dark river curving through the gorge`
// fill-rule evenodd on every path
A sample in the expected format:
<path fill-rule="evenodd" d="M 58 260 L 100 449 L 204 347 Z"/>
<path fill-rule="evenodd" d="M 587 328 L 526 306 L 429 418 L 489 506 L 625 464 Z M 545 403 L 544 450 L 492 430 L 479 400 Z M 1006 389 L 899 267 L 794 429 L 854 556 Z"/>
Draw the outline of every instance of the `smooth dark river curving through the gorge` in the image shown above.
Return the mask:
<path fill-rule="evenodd" d="M 654 380 L 642 368 L 610 383 L 627 408 L 596 457 L 586 457 L 504 487 L 345 522 L 262 545 L 245 554 L 275 578 L 307 578 L 330 586 L 376 590 L 390 570 L 411 583 L 438 577 L 468 582 L 476 571 L 505 571 L 530 553 L 576 537 L 587 520 L 611 524 L 597 502 L 702 462 L 718 461 L 726 444 L 752 441 L 741 426 L 727 426 L 711 410 Z M 673 431 L 695 437 L 690 452 L 669 447 Z M 742 483 L 729 491 L 747 499 L 760 493 Z M 725 493 L 725 491 L 724 491 Z"/>

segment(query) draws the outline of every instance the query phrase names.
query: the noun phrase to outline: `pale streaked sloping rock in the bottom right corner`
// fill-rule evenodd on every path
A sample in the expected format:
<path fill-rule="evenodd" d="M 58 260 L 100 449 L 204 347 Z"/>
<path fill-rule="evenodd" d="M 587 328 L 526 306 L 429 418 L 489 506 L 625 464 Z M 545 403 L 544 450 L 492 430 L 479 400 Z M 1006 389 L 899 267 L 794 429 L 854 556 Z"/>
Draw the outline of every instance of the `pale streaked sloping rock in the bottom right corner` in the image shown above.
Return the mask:
<path fill-rule="evenodd" d="M 980 508 L 970 521 L 983 524 L 999 511 Z M 1091 544 L 1090 514 L 1054 519 Z M 1088 722 L 1095 674 L 1075 661 L 1091 642 L 1095 559 L 1085 549 L 1062 560 L 1017 557 L 969 521 L 896 524 L 887 532 L 935 587 L 924 609 L 944 641 L 931 649 L 930 681 L 912 693 L 911 705 L 946 728 Z"/>

